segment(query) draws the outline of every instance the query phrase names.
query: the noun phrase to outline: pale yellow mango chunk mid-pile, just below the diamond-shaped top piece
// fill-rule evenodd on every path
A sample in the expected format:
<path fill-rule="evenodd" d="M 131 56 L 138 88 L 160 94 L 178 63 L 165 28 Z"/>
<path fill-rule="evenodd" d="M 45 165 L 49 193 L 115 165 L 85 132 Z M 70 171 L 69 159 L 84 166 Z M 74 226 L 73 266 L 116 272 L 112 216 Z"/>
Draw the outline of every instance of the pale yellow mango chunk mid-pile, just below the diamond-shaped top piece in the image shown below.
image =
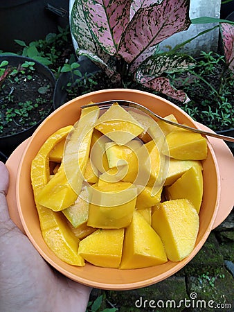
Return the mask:
<path fill-rule="evenodd" d="M 133 153 L 142 146 L 141 141 L 132 140 L 126 145 L 118 145 L 114 142 L 106 144 L 106 154 L 109 168 L 128 164 Z"/>

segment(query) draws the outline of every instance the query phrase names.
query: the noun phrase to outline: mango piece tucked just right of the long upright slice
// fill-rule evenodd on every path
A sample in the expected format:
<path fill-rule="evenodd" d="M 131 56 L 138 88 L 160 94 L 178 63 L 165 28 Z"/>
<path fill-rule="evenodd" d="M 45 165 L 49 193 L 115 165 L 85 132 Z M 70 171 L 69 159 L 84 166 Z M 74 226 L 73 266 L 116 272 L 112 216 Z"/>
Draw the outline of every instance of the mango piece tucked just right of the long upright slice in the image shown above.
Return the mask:
<path fill-rule="evenodd" d="M 101 173 L 109 170 L 107 155 L 105 152 L 105 144 L 110 141 L 111 140 L 108 137 L 102 135 L 102 133 L 98 130 L 93 130 L 90 147 L 90 158 L 91 162 Z"/>

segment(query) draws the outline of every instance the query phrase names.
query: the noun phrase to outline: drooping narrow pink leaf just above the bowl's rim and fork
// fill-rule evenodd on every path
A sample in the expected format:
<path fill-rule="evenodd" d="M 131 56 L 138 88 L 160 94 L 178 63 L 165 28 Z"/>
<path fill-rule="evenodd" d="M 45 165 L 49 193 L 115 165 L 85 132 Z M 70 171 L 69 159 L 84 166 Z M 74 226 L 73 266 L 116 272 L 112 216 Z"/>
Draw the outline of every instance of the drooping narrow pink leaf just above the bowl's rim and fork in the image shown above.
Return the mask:
<path fill-rule="evenodd" d="M 187 94 L 182 90 L 177 90 L 170 84 L 170 80 L 165 77 L 154 77 L 150 75 L 143 75 L 141 71 L 136 73 L 135 79 L 141 85 L 154 89 L 157 92 L 170 96 L 178 101 L 187 103 L 190 101 Z"/>

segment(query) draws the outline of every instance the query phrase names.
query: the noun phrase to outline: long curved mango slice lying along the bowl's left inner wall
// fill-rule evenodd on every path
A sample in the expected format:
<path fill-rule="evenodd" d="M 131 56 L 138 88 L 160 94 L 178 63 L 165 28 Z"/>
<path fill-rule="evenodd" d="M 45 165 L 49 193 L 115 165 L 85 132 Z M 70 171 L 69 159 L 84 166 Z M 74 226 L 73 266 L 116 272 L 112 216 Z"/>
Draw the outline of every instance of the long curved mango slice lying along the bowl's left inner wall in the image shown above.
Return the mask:
<path fill-rule="evenodd" d="M 61 128 L 46 140 L 33 159 L 30 176 L 42 236 L 46 245 L 62 261 L 74 266 L 84 266 L 84 259 L 78 255 L 80 240 L 67 227 L 66 220 L 64 220 L 62 214 L 43 207 L 37 202 L 38 194 L 49 180 L 49 154 L 54 146 L 68 135 L 70 130 L 71 126 Z"/>

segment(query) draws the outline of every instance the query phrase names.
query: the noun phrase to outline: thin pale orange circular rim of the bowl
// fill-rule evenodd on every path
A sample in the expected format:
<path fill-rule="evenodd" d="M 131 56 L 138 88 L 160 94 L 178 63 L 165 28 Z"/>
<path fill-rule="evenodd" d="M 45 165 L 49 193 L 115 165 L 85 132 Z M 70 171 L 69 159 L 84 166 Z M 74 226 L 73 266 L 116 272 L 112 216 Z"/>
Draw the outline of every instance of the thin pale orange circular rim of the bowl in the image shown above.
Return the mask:
<path fill-rule="evenodd" d="M 57 108 L 57 110 L 55 110 L 54 112 L 52 112 L 40 125 L 39 127 L 35 130 L 35 132 L 33 133 L 33 135 L 30 137 L 30 139 L 28 140 L 28 144 L 24 150 L 24 153 L 22 154 L 21 160 L 19 162 L 19 168 L 18 168 L 18 172 L 17 172 L 17 184 L 16 184 L 16 188 L 17 188 L 17 209 L 19 212 L 19 218 L 21 220 L 21 223 L 24 227 L 24 231 L 26 232 L 26 235 L 28 236 L 28 238 L 30 239 L 30 241 L 33 243 L 34 247 L 36 248 L 36 250 L 39 252 L 39 254 L 42 255 L 42 257 L 51 264 L 51 266 L 53 266 L 55 269 L 57 269 L 59 272 L 61 272 L 63 275 L 65 275 L 66 277 L 69 277 L 70 279 L 73 279 L 74 281 L 78 281 L 81 284 L 87 285 L 87 286 L 91 286 L 91 287 L 95 287 L 95 288 L 100 288 L 100 289 L 107 289 L 107 290 L 130 290 L 130 289 L 136 289 L 136 288 L 142 288 L 145 286 L 150 286 L 152 284 L 156 284 L 159 281 L 162 281 L 163 279 L 166 279 L 172 275 L 174 275 L 176 272 L 178 272 L 179 270 L 181 270 L 181 268 L 183 268 L 184 266 L 186 266 L 186 264 L 191 261 L 191 259 L 193 257 L 195 257 L 195 255 L 197 254 L 197 252 L 199 252 L 199 250 L 201 249 L 201 247 L 204 245 L 204 243 L 206 242 L 206 239 L 208 238 L 210 231 L 213 229 L 213 223 L 215 222 L 215 218 L 217 216 L 217 209 L 219 207 L 219 200 L 220 200 L 220 174 L 219 174 L 219 167 L 217 164 L 217 159 L 215 156 L 215 152 L 213 150 L 213 147 L 211 146 L 211 144 L 208 141 L 208 148 L 210 150 L 210 153 L 212 155 L 214 164 L 215 164 L 215 174 L 217 177 L 217 198 L 216 198 L 216 202 L 215 202 L 215 208 L 213 210 L 213 215 L 212 218 L 210 219 L 210 223 L 208 226 L 208 229 L 206 229 L 205 234 L 202 236 L 202 238 L 200 239 L 200 241 L 197 243 L 197 245 L 195 245 L 194 250 L 192 250 L 191 254 L 186 257 L 185 259 L 179 261 L 175 266 L 172 266 L 172 268 L 170 268 L 169 270 L 167 270 L 166 272 L 161 273 L 160 275 L 156 275 L 156 277 L 151 277 L 149 279 L 143 279 L 141 281 L 135 281 L 133 282 L 129 282 L 129 283 L 120 283 L 120 284 L 116 284 L 116 283 L 104 283 L 104 282 L 99 282 L 99 281 L 90 281 L 89 279 L 86 279 L 84 277 L 80 277 L 78 275 L 73 274 L 72 272 L 67 272 L 66 270 L 64 270 L 63 268 L 61 268 L 59 263 L 55 263 L 55 261 L 53 261 L 48 254 L 46 254 L 46 252 L 40 248 L 37 245 L 37 241 L 35 240 L 35 238 L 32 236 L 32 234 L 30 233 L 30 231 L 28 230 L 28 226 L 25 223 L 24 220 L 24 216 L 22 214 L 22 211 L 19 207 L 19 180 L 20 180 L 20 175 L 21 175 L 21 167 L 22 164 L 24 162 L 24 157 L 26 156 L 26 154 L 28 153 L 28 149 L 30 148 L 30 143 L 31 141 L 34 139 L 34 137 L 37 135 L 37 132 L 39 132 L 39 130 L 41 128 L 43 128 L 44 123 L 48 122 L 49 119 L 53 118 L 54 114 L 57 114 L 57 112 L 59 110 L 64 110 L 66 108 L 66 106 L 71 105 L 71 103 L 77 101 L 78 99 L 83 99 L 86 98 L 87 96 L 95 96 L 96 94 L 103 94 L 103 93 L 109 93 L 111 94 L 111 92 L 125 92 L 125 93 L 129 93 L 129 92 L 134 92 L 134 93 L 138 93 L 138 94 L 145 94 L 147 96 L 152 96 L 154 98 L 159 98 L 160 101 L 164 101 L 165 103 L 168 103 L 170 105 L 172 105 L 174 108 L 176 108 L 176 110 L 179 110 L 182 114 L 186 115 L 186 118 L 188 118 L 190 120 L 190 122 L 192 123 L 193 126 L 195 126 L 196 128 L 199 128 L 199 125 L 192 119 L 192 117 L 190 117 L 186 112 L 184 112 L 180 107 L 178 107 L 177 105 L 174 105 L 174 103 L 171 103 L 168 100 L 165 100 L 164 98 L 161 98 L 160 96 L 156 96 L 154 94 L 150 94 L 148 92 L 142 92 L 139 90 L 135 90 L 135 89 L 105 89 L 105 90 L 99 90 L 97 92 L 90 92 L 89 94 L 84 94 L 82 96 L 78 96 L 77 98 L 74 98 L 73 100 L 65 103 L 64 105 L 60 106 Z M 119 98 L 120 99 L 120 98 Z M 60 261 L 59 261 L 60 262 Z M 91 265 L 92 266 L 92 265 Z M 81 267 L 82 268 L 82 267 Z M 99 268 L 99 267 L 98 267 Z M 147 269 L 147 268 L 146 268 Z M 118 269 L 109 269 L 109 270 L 118 270 Z M 143 269 L 134 269 L 136 272 L 137 270 L 143 270 Z M 126 271 L 126 270 L 124 270 Z M 137 273 L 136 273 L 137 274 Z"/>

